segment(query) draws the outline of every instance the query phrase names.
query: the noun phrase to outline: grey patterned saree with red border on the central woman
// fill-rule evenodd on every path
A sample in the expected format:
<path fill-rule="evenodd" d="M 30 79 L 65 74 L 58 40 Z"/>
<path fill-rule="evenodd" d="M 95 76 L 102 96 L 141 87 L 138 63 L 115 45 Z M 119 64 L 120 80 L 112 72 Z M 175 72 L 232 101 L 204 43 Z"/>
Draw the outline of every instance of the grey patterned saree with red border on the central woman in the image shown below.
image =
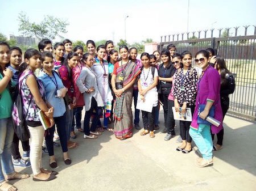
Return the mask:
<path fill-rule="evenodd" d="M 113 74 L 116 75 L 115 83 L 123 82 L 123 87 L 129 84 L 133 79 L 137 78 L 141 73 L 139 66 L 135 62 L 129 61 L 122 66 L 119 62 L 115 63 Z M 123 81 L 120 76 L 123 74 Z M 115 99 L 114 107 L 114 134 L 118 139 L 126 139 L 133 136 L 133 113 L 131 111 L 131 103 L 133 101 L 133 86 L 123 92 L 120 97 Z"/>

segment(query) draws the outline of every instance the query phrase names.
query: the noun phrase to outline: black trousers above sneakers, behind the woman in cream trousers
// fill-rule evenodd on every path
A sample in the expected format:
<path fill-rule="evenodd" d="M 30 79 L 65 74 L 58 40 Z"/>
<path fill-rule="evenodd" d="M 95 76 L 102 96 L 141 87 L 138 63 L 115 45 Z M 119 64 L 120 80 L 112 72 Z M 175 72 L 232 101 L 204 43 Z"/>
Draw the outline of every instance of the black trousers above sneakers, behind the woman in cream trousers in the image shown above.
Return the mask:
<path fill-rule="evenodd" d="M 30 151 L 30 141 L 21 141 L 23 151 Z M 17 137 L 16 133 L 14 132 L 13 135 L 13 146 L 11 146 L 11 155 L 13 155 L 13 159 L 21 159 L 19 153 L 19 138 Z"/>

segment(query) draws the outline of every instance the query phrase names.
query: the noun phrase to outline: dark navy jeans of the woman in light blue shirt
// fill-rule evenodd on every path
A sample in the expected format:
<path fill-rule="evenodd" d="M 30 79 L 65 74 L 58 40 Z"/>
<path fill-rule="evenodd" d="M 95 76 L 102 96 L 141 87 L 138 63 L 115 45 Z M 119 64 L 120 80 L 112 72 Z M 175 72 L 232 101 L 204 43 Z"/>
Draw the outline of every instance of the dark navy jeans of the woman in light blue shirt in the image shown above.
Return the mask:
<path fill-rule="evenodd" d="M 60 144 L 61 144 L 62 152 L 67 152 L 68 151 L 68 147 L 67 147 L 68 141 L 67 141 L 67 136 L 66 136 L 67 133 L 66 133 L 66 129 L 65 129 L 65 121 L 66 121 L 65 114 L 60 117 L 54 117 L 54 121 L 55 121 L 55 125 L 57 127 L 57 132 L 60 137 Z M 54 151 L 53 151 L 54 131 L 55 131 L 55 126 L 46 130 L 46 146 L 47 146 L 47 150 L 49 152 L 49 156 L 54 155 Z"/>

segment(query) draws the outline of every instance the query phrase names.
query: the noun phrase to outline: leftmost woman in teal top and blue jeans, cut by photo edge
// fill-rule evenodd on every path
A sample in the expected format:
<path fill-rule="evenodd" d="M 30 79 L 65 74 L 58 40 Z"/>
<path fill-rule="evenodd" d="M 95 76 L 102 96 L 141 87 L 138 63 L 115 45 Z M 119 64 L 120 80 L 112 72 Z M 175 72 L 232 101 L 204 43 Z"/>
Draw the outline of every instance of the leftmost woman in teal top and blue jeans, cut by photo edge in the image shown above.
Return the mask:
<path fill-rule="evenodd" d="M 27 174 L 14 171 L 13 161 L 11 160 L 11 146 L 13 143 L 13 119 L 11 110 L 13 100 L 11 99 L 11 77 L 13 72 L 6 68 L 10 61 L 10 46 L 0 41 L 0 190 L 17 190 L 13 185 L 6 182 L 2 167 L 5 169 L 6 179 L 26 179 Z"/>

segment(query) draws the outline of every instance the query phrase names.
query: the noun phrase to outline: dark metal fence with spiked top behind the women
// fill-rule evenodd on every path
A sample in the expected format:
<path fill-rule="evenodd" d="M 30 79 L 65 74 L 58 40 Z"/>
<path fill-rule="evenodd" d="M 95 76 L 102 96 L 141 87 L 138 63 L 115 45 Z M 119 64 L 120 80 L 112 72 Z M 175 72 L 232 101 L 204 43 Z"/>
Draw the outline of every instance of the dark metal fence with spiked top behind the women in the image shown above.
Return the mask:
<path fill-rule="evenodd" d="M 188 50 L 195 55 L 199 50 L 213 48 L 218 55 L 224 57 L 228 69 L 236 77 L 236 90 L 229 96 L 228 113 L 256 120 L 256 26 L 254 26 L 254 35 L 247 35 L 248 27 L 244 27 L 245 36 L 237 36 L 238 27 L 233 28 L 235 36 L 229 35 L 232 28 L 226 28 L 228 37 L 221 37 L 222 29 L 218 29 L 218 37 L 213 37 L 213 29 L 211 29 L 209 38 L 206 38 L 207 30 L 205 30 L 204 39 L 200 39 L 202 31 L 192 32 L 193 39 L 189 39 L 187 33 L 187 40 L 183 40 L 185 33 L 162 36 L 158 49 L 162 50 L 168 44 L 174 44 L 177 53 Z M 199 38 L 195 38 L 196 34 Z M 166 41 L 167 39 L 176 39 L 176 41 Z"/>

